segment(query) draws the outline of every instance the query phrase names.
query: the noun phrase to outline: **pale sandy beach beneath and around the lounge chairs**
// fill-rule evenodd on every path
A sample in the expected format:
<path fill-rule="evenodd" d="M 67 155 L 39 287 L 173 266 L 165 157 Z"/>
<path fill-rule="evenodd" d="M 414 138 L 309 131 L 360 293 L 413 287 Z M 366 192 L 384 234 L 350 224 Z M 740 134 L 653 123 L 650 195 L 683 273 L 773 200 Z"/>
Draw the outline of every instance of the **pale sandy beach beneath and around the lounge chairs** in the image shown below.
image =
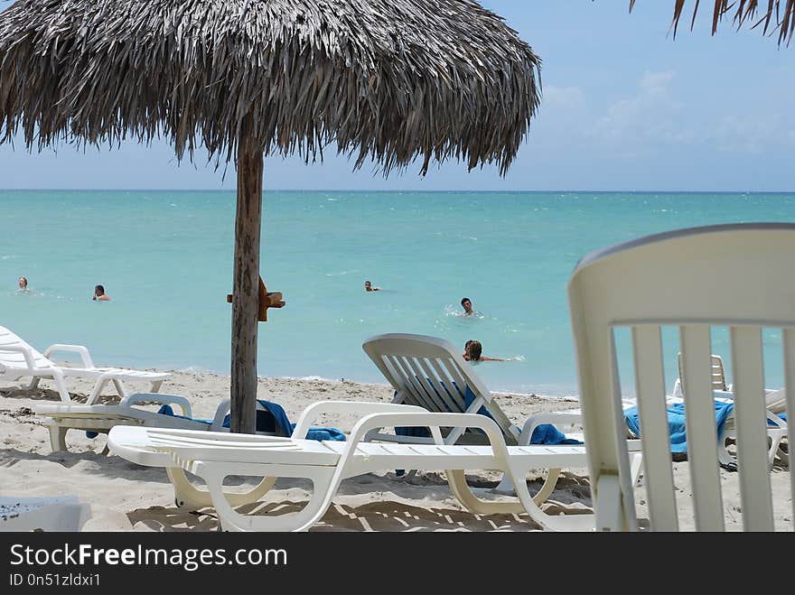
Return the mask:
<path fill-rule="evenodd" d="M 71 395 L 85 401 L 91 383 L 68 381 Z M 138 388 L 131 386 L 131 388 Z M 141 390 L 145 390 L 141 387 Z M 173 372 L 163 393 L 184 395 L 192 403 L 195 417 L 211 417 L 219 402 L 229 395 L 229 377 L 210 373 Z M 389 386 L 348 381 L 260 378 L 257 397 L 281 404 L 291 421 L 297 421 L 305 406 L 319 400 L 388 402 Z M 529 414 L 578 406 L 575 400 L 551 399 L 536 395 L 495 394 L 500 407 L 514 423 L 521 425 Z M 103 402 L 117 397 L 107 389 Z M 0 496 L 51 497 L 76 495 L 91 507 L 86 531 L 212 531 L 218 521 L 211 509 L 184 512 L 173 504 L 173 489 L 164 469 L 145 468 L 101 451 L 105 436 L 89 440 L 84 432 L 67 436 L 69 452 L 51 452 L 45 419 L 33 413 L 43 401 L 56 403 L 58 394 L 42 380 L 39 388 L 0 387 Z M 329 415 L 320 423 L 349 432 L 356 419 Z M 687 514 L 689 496 L 687 462 L 675 464 L 680 525 L 693 529 Z M 507 498 L 493 491 L 499 474 L 487 471 L 467 473 L 483 498 Z M 539 476 L 540 477 L 540 476 Z M 742 530 L 737 473 L 721 469 L 728 530 Z M 790 472 L 776 464 L 772 472 L 773 507 L 777 530 L 792 530 Z M 260 508 L 285 512 L 296 509 L 308 497 L 308 481 L 280 479 Z M 641 516 L 646 511 L 645 489 L 637 490 Z M 556 491 L 544 508 L 547 512 L 583 513 L 590 510 L 590 486 L 586 469 L 566 469 Z M 312 531 L 538 531 L 522 515 L 473 515 L 453 496 L 441 473 L 419 473 L 405 479 L 394 471 L 368 474 L 343 481 L 334 504 Z"/>

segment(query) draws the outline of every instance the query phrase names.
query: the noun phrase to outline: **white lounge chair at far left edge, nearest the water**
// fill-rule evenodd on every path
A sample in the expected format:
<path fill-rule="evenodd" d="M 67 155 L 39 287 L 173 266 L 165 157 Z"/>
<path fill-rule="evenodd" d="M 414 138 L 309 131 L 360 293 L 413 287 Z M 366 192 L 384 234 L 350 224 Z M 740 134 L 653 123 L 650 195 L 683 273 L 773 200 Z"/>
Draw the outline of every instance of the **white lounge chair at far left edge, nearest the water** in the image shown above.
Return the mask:
<path fill-rule="evenodd" d="M 59 366 L 53 363 L 49 358 L 55 351 L 70 351 L 79 354 L 83 367 Z M 118 395 L 125 397 L 127 393 L 124 382 L 149 382 L 151 383 L 150 392 L 156 393 L 160 390 L 163 381 L 170 378 L 171 374 L 121 367 L 96 367 L 89 354 L 89 349 L 82 345 L 57 343 L 48 347 L 42 354 L 17 337 L 11 330 L 0 327 L 0 379 L 15 381 L 22 377 L 33 378 L 28 386 L 31 389 L 38 386 L 40 379 L 51 378 L 64 403 L 69 403 L 71 400 L 64 383 L 65 377 L 95 380 L 96 384 L 87 401 L 87 404 L 94 404 L 108 382 L 113 382 Z"/>

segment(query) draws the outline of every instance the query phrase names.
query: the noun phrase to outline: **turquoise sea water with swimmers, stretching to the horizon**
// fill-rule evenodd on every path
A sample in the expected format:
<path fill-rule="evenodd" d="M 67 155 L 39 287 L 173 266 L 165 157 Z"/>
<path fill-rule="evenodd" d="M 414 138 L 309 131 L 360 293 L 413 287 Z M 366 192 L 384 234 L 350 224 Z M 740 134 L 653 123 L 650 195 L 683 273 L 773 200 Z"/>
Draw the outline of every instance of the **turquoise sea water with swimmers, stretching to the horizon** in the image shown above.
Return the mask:
<path fill-rule="evenodd" d="M 41 350 L 87 345 L 98 364 L 229 374 L 233 192 L 0 191 L 0 204 L 0 325 Z M 260 325 L 258 373 L 384 382 L 362 341 L 416 332 L 513 358 L 477 365 L 492 390 L 575 395 L 577 260 L 741 221 L 795 221 L 795 194 L 267 191 L 261 271 L 287 305 Z M 95 284 L 111 302 L 91 301 Z M 463 296 L 478 316 L 460 315 Z M 665 349 L 670 388 L 675 339 Z M 725 333 L 713 350 L 730 367 Z M 781 386 L 777 362 L 767 386 Z"/>

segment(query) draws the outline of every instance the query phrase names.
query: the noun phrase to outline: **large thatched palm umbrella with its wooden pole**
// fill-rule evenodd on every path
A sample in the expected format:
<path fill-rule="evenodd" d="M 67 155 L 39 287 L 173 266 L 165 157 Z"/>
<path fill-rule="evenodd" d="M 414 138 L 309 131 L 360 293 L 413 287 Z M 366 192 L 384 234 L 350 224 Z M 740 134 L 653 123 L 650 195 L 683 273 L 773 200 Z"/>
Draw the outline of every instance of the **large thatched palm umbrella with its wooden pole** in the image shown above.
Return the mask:
<path fill-rule="evenodd" d="M 504 173 L 538 68 L 473 0 L 19 0 L 0 14 L 0 142 L 164 136 L 180 159 L 236 159 L 232 428 L 253 432 L 263 154 Z"/>

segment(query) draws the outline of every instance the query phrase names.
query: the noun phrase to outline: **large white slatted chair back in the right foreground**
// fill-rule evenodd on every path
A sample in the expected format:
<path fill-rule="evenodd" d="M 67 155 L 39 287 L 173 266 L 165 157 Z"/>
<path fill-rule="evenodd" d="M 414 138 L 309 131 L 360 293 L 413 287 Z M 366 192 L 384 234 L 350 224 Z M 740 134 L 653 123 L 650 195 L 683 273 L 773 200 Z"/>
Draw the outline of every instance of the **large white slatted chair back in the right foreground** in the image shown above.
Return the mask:
<path fill-rule="evenodd" d="M 650 528 L 678 530 L 660 326 L 679 327 L 687 461 L 698 531 L 725 530 L 710 326 L 729 327 L 745 530 L 772 531 L 762 327 L 782 329 L 795 384 L 795 225 L 740 224 L 642 237 L 585 256 L 568 285 L 597 530 L 638 530 L 613 330 L 631 328 Z M 671 291 L 676 287 L 676 291 Z M 792 389 L 785 408 L 795 411 Z M 795 492 L 795 485 L 792 487 Z M 790 496 L 791 501 L 791 496 Z M 685 506 L 684 501 L 679 502 Z"/>

